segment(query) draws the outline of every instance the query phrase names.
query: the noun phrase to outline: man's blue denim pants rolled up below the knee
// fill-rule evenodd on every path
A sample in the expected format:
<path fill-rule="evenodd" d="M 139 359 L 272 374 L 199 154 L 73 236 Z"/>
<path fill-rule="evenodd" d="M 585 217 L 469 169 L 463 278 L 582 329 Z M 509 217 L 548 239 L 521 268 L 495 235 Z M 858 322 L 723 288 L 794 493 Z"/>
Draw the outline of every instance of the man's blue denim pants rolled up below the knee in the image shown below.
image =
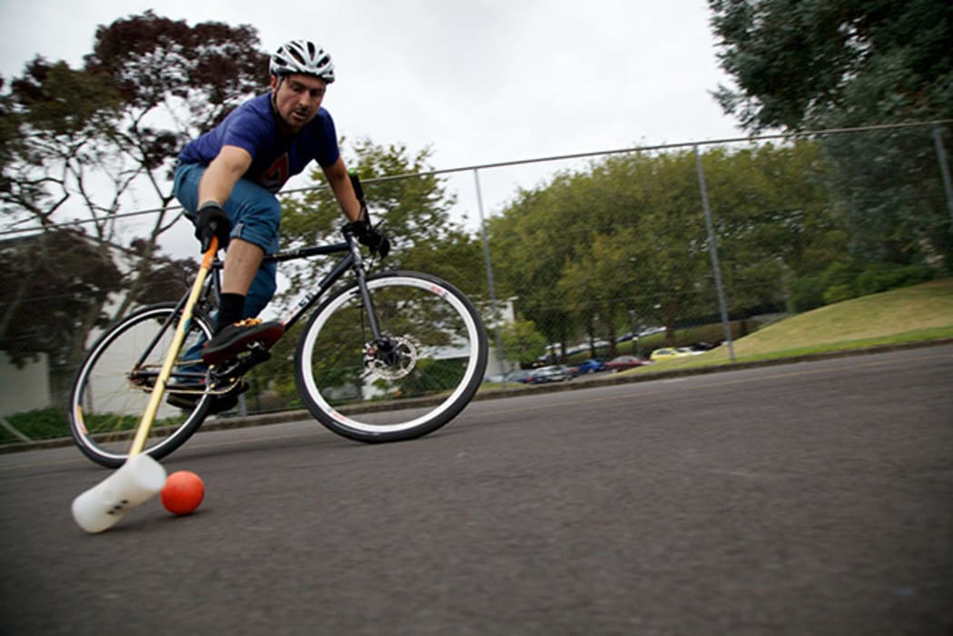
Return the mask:
<path fill-rule="evenodd" d="M 175 198 L 185 209 L 185 214 L 195 220 L 198 209 L 198 182 L 205 173 L 200 164 L 179 164 L 175 167 Z M 239 179 L 232 189 L 232 196 L 222 206 L 232 218 L 232 238 L 240 238 L 274 254 L 278 250 L 278 228 L 281 225 L 281 205 L 277 197 L 267 189 L 245 179 Z M 275 278 L 277 264 L 264 263 L 255 274 L 252 287 L 245 297 L 245 316 L 253 318 L 268 305 L 277 288 Z"/>

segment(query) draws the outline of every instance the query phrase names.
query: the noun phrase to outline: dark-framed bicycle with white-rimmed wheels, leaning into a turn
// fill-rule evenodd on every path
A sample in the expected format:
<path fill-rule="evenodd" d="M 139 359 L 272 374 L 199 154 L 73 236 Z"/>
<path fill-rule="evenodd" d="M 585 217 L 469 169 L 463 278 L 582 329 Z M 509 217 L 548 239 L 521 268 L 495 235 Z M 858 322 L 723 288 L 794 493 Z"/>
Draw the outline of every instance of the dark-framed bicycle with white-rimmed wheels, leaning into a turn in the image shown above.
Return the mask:
<path fill-rule="evenodd" d="M 351 440 L 396 442 L 431 433 L 469 404 L 483 380 L 488 339 L 479 313 L 436 276 L 369 274 L 354 234 L 342 234 L 339 243 L 266 257 L 280 263 L 342 254 L 282 320 L 287 335 L 320 302 L 295 348 L 298 395 L 321 425 Z M 190 369 L 194 360 L 182 357 L 212 337 L 221 269 L 216 258 L 165 387 L 168 395 L 192 396 L 194 406 L 159 408 L 142 448 L 154 459 L 181 447 L 209 415 L 213 399 L 238 390 L 245 373 L 270 356 L 253 345 L 204 372 Z M 347 281 L 349 272 L 353 280 Z M 335 288 L 338 283 L 344 287 Z M 151 398 L 188 296 L 132 312 L 88 352 L 71 390 L 69 420 L 76 445 L 93 462 L 125 463 L 137 416 Z M 196 381 L 204 387 L 194 388 Z"/>

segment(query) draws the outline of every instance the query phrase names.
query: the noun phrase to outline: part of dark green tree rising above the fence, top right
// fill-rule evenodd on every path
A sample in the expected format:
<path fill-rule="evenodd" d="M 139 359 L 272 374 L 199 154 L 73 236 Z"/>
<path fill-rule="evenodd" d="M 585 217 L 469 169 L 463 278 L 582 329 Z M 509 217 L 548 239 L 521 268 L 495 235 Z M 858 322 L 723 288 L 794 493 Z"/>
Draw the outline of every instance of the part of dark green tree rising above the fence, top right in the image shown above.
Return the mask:
<path fill-rule="evenodd" d="M 953 5 L 936 0 L 709 0 L 716 93 L 745 129 L 949 117 Z M 911 46 L 911 42 L 916 46 Z"/>

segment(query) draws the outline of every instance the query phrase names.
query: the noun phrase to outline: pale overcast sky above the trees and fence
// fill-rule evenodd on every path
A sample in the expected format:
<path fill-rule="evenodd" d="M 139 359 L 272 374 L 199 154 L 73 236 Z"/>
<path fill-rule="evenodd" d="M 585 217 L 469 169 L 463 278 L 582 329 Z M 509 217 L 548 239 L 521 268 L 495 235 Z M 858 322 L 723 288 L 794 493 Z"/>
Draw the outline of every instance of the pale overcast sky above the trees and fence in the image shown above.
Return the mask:
<path fill-rule="evenodd" d="M 0 74 L 78 67 L 97 26 L 148 9 L 251 25 L 265 50 L 313 39 L 338 133 L 429 146 L 435 169 L 742 135 L 709 94 L 727 80 L 705 0 L 0 0 Z M 481 172 L 486 212 L 561 167 Z M 473 218 L 472 174 L 453 183 Z"/>

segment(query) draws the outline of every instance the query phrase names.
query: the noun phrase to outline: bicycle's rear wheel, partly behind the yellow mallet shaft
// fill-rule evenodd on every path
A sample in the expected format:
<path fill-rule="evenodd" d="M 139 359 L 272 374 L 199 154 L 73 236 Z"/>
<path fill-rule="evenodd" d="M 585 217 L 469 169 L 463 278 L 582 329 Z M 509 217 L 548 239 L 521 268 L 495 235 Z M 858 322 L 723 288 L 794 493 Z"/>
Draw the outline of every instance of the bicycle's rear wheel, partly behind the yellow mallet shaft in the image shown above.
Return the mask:
<path fill-rule="evenodd" d="M 152 341 L 174 311 L 172 303 L 151 305 L 117 321 L 96 340 L 76 373 L 70 393 L 70 432 L 76 446 L 96 464 L 119 467 L 126 462 L 135 428 L 152 395 L 150 383 L 172 344 L 175 324 L 163 331 L 158 342 Z M 181 350 L 211 334 L 209 319 L 195 312 Z M 144 364 L 137 367 L 140 356 Z M 173 369 L 170 383 L 175 380 Z M 163 402 L 143 452 L 160 459 L 182 446 L 205 419 L 211 402 L 208 393 L 191 410 Z"/>

